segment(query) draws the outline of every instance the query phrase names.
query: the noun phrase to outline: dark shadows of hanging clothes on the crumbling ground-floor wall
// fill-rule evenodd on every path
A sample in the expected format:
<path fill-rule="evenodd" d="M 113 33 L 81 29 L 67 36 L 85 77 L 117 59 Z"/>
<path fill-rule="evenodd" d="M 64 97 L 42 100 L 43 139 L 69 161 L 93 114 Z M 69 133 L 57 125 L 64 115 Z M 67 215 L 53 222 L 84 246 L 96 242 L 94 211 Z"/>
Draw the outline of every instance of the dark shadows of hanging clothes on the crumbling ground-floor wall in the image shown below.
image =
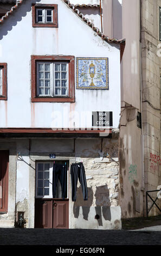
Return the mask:
<path fill-rule="evenodd" d="M 106 221 L 111 221 L 110 197 L 107 184 L 105 186 L 96 187 L 95 197 L 95 216 L 99 226 L 102 226 L 102 215 Z M 83 219 L 88 221 L 90 208 L 93 204 L 93 189 L 88 187 L 88 200 L 84 201 L 81 186 L 77 189 L 77 199 L 73 205 L 73 214 L 75 218 L 79 218 L 80 207 L 82 207 Z"/>

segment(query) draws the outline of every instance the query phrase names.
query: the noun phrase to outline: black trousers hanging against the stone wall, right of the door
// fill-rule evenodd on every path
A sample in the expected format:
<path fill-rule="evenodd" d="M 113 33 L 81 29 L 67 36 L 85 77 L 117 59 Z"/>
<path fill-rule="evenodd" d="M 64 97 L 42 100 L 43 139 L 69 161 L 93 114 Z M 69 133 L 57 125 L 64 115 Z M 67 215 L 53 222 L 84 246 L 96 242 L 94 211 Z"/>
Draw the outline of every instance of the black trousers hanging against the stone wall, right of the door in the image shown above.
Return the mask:
<path fill-rule="evenodd" d="M 85 168 L 82 163 L 73 163 L 70 168 L 71 181 L 72 181 L 72 201 L 76 201 L 76 188 L 78 179 L 82 187 L 83 199 L 88 200 L 88 190 L 86 182 Z"/>

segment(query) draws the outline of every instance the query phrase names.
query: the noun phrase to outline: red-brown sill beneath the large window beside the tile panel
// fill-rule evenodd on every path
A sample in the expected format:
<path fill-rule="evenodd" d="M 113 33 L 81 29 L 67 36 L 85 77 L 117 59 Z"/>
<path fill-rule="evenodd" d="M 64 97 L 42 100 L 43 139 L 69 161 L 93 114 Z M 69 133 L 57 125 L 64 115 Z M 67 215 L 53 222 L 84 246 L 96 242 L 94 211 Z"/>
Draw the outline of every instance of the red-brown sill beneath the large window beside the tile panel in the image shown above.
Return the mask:
<path fill-rule="evenodd" d="M 33 97 L 31 102 L 75 102 L 72 97 Z"/>

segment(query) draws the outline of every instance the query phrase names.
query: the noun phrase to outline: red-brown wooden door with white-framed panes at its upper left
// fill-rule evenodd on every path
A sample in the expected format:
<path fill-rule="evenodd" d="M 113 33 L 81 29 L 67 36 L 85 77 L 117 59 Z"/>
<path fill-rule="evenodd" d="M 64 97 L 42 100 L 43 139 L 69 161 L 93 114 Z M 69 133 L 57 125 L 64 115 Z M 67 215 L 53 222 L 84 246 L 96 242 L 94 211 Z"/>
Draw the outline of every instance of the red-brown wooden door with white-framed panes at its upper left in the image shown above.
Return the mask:
<path fill-rule="evenodd" d="M 39 164 L 41 163 L 41 164 Z M 47 177 L 51 178 L 51 168 L 52 164 L 49 164 L 49 168 L 47 168 L 47 164 L 49 162 L 38 162 L 39 169 L 37 169 L 37 180 L 36 184 L 44 185 L 44 181 L 47 180 Z M 40 175 L 38 176 L 38 173 Z M 42 172 L 46 173 L 50 172 L 50 175 L 42 174 Z M 45 178 L 46 177 L 46 178 Z M 49 178 L 49 182 L 51 184 L 52 179 Z M 40 187 L 36 187 L 38 193 L 41 193 L 42 190 Z M 52 187 L 49 186 L 48 194 L 38 196 L 36 192 L 35 198 L 35 228 L 69 228 L 69 200 L 61 199 L 61 198 L 51 198 Z M 58 187 L 57 194 L 60 194 L 60 187 Z M 46 198 L 44 198 L 46 197 Z"/>

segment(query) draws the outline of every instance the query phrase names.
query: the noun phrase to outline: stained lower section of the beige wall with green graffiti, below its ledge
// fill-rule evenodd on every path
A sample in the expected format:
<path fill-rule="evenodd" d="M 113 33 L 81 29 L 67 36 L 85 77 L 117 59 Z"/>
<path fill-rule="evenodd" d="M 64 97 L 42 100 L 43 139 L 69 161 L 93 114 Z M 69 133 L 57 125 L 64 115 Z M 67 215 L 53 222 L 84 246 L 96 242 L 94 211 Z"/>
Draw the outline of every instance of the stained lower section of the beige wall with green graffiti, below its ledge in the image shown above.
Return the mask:
<path fill-rule="evenodd" d="M 143 216 L 144 174 L 141 154 L 141 129 L 137 127 L 137 118 L 135 116 L 128 121 L 127 109 L 124 109 L 120 120 L 119 145 L 119 204 L 123 218 Z"/>

